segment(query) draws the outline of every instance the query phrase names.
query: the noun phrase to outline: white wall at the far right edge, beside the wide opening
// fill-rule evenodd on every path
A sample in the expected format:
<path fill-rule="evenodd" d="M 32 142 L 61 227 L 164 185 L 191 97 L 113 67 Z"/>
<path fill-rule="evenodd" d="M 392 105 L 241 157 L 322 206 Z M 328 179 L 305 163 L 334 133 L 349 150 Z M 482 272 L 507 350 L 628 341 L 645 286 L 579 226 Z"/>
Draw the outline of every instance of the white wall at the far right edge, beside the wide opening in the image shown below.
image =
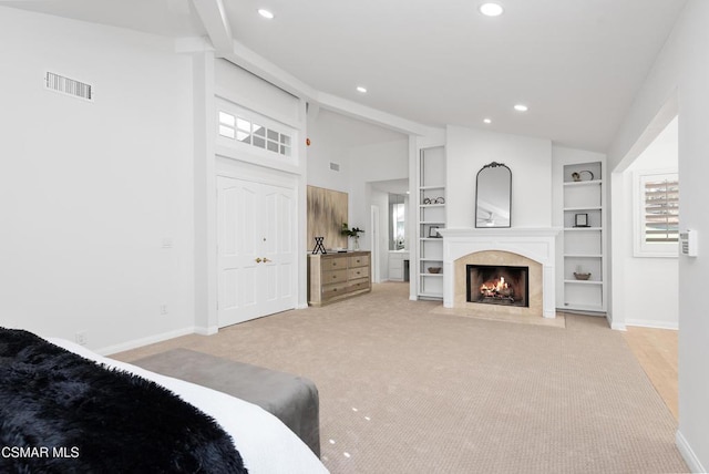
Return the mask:
<path fill-rule="evenodd" d="M 679 430 L 680 452 L 695 472 L 709 468 L 709 318 L 697 281 L 709 280 L 709 2 L 689 0 L 665 49 L 639 91 L 610 148 L 621 164 L 645 128 L 677 91 L 681 228 L 698 231 L 699 257 L 679 258 Z M 614 262 L 615 264 L 615 262 Z"/>

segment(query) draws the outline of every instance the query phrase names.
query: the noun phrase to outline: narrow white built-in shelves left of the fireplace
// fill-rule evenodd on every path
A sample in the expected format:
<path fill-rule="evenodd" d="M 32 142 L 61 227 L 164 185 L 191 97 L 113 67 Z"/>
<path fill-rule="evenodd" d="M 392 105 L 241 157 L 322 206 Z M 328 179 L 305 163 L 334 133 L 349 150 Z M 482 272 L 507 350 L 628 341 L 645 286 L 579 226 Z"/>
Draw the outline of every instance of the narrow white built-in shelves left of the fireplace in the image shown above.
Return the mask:
<path fill-rule="evenodd" d="M 419 156 L 417 265 L 418 297 L 443 298 L 443 239 L 435 228 L 445 228 L 445 150 L 421 150 Z M 430 268 L 440 268 L 434 274 Z"/>

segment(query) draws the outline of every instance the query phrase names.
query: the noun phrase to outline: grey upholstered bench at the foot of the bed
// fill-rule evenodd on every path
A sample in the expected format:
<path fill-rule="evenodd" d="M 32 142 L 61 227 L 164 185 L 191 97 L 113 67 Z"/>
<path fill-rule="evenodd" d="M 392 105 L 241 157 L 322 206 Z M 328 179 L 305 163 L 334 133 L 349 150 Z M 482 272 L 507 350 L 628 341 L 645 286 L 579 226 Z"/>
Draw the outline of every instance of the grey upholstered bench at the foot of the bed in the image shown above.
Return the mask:
<path fill-rule="evenodd" d="M 259 405 L 320 456 L 318 389 L 308 379 L 187 349 L 174 349 L 131 363 Z"/>

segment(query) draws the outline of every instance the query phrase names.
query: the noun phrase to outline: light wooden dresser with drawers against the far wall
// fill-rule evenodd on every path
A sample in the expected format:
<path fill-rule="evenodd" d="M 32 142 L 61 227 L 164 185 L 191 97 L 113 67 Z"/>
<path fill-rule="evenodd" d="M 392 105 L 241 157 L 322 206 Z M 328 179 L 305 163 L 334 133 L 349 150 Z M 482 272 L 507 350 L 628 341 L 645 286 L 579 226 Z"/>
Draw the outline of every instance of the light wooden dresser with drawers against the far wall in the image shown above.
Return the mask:
<path fill-rule="evenodd" d="M 308 255 L 308 305 L 328 305 L 371 289 L 369 251 Z"/>

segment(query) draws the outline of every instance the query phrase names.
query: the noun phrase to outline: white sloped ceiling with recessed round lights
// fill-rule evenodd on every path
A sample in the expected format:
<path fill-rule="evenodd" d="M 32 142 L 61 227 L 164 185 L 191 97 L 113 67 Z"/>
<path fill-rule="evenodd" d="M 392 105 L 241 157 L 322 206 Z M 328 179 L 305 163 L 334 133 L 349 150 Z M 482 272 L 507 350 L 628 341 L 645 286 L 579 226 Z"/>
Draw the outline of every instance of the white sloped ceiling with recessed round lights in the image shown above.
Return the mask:
<path fill-rule="evenodd" d="M 479 13 L 482 0 L 223 2 L 234 40 L 320 92 L 427 125 L 605 152 L 686 0 L 501 0 L 499 18 Z M 207 31 L 192 0 L 0 6 L 171 37 Z"/>

